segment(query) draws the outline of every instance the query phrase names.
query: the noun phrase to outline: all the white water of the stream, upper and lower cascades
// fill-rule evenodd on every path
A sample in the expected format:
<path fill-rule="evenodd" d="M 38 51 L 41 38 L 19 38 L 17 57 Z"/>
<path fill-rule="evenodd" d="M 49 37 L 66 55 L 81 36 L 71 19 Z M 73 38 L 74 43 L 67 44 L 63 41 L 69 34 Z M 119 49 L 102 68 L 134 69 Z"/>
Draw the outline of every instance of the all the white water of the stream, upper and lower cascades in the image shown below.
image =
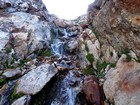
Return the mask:
<path fill-rule="evenodd" d="M 64 29 L 63 38 L 68 38 L 68 33 L 66 29 Z M 56 39 L 53 41 L 51 45 L 52 52 L 54 55 L 63 56 L 66 54 L 64 42 L 60 39 L 58 32 L 56 32 Z M 64 60 L 63 60 L 64 62 Z M 65 63 L 65 66 L 70 66 Z M 56 89 L 56 95 L 51 102 L 51 105 L 75 105 L 77 94 L 80 92 L 82 85 L 82 77 L 80 76 L 80 72 L 76 70 L 67 71 L 66 76 L 59 81 Z"/>

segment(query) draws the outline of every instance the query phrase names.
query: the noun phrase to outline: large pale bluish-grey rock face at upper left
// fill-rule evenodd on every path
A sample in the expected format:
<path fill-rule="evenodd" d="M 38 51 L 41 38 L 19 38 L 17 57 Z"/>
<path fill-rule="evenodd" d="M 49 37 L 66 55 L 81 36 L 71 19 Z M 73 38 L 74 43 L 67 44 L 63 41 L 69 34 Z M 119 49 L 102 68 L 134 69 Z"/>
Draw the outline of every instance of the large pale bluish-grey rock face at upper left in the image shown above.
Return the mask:
<path fill-rule="evenodd" d="M 17 58 L 24 58 L 48 46 L 48 11 L 40 0 L 2 0 L 0 8 L 0 51 L 13 47 Z"/>

